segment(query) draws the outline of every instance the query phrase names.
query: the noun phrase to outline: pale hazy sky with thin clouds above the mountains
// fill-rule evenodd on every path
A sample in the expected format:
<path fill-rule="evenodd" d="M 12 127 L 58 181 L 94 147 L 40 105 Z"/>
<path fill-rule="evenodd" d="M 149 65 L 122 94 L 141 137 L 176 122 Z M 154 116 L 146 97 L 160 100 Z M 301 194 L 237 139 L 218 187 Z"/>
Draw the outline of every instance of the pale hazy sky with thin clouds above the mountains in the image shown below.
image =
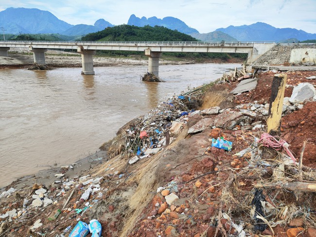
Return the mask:
<path fill-rule="evenodd" d="M 100 18 L 127 24 L 135 14 L 176 17 L 200 33 L 258 21 L 316 33 L 316 0 L 0 0 L 0 11 L 8 7 L 50 11 L 73 25 L 93 25 Z"/>

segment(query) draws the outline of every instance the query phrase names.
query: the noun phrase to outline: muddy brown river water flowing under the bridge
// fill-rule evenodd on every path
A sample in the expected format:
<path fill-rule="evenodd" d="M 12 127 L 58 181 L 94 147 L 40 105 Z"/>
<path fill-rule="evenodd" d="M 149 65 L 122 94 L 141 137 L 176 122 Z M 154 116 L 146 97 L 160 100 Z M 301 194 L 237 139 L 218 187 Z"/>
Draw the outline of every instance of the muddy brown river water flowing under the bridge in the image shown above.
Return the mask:
<path fill-rule="evenodd" d="M 81 68 L 0 69 L 0 187 L 96 152 L 163 99 L 239 66 L 159 66 L 165 83 L 142 82 L 146 66 L 94 68 L 95 75 L 81 75 Z"/>

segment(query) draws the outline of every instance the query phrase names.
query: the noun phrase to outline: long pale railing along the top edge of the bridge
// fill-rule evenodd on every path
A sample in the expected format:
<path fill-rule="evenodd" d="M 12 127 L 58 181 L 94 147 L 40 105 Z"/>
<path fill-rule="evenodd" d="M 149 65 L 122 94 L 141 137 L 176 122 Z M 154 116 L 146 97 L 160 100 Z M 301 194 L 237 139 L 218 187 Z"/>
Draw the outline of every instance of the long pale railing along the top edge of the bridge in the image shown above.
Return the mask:
<path fill-rule="evenodd" d="M 253 46 L 274 41 L 0 41 L 0 45 Z"/>

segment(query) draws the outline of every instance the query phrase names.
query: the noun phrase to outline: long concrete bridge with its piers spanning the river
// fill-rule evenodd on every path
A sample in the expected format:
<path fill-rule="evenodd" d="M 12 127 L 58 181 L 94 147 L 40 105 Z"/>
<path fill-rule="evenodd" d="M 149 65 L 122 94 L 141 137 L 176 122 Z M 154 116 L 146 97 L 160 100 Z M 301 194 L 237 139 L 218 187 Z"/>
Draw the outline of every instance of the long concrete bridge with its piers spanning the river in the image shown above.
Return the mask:
<path fill-rule="evenodd" d="M 250 64 L 270 50 L 274 42 L 121 42 L 121 41 L 0 41 L 0 56 L 8 56 L 10 48 L 28 48 L 33 52 L 34 62 L 45 65 L 45 52 L 48 49 L 77 50 L 81 54 L 82 74 L 94 74 L 93 55 L 96 50 L 143 51 L 148 56 L 148 72 L 158 76 L 161 52 L 223 52 L 247 53 Z"/>

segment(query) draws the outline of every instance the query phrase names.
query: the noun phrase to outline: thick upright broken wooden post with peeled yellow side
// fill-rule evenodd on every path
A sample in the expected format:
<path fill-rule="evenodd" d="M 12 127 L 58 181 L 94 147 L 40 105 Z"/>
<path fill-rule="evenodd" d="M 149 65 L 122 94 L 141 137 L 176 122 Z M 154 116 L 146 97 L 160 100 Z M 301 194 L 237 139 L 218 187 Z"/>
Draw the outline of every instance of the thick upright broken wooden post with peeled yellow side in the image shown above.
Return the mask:
<path fill-rule="evenodd" d="M 286 80 L 286 74 L 275 74 L 272 81 L 269 114 L 266 121 L 267 133 L 270 135 L 280 135 L 281 133 L 280 125 Z"/>

